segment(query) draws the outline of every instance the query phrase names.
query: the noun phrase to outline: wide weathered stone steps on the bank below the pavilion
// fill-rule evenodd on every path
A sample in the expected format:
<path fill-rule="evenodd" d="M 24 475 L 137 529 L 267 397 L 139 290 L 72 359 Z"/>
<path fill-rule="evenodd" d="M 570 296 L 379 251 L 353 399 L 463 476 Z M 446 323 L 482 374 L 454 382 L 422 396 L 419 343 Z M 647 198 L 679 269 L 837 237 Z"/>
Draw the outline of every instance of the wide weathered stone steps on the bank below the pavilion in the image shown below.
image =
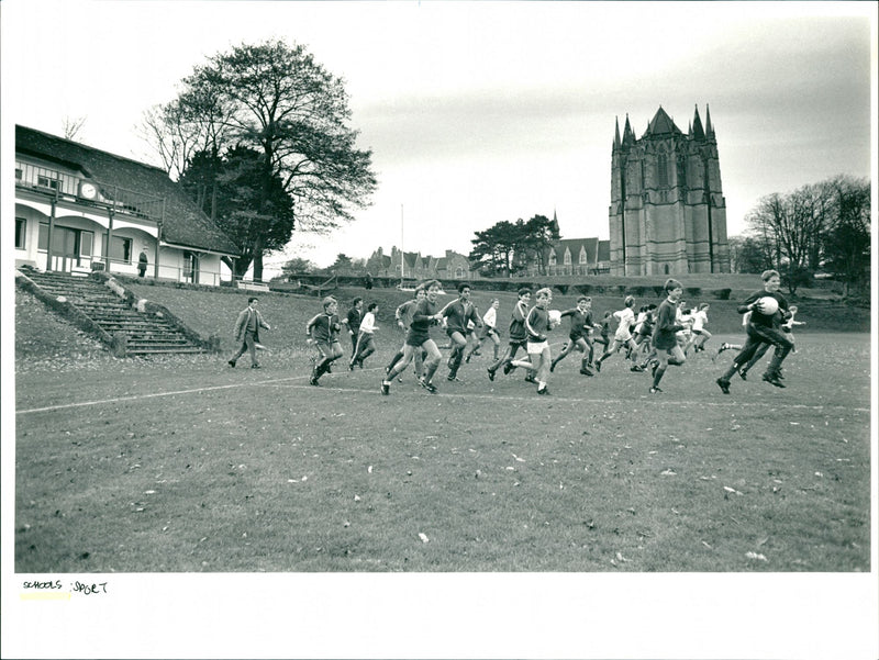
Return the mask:
<path fill-rule="evenodd" d="M 127 356 L 208 353 L 176 329 L 167 318 L 133 309 L 101 282 L 66 272 L 32 269 L 23 272 L 49 295 L 65 297 L 109 335 L 124 333 Z"/>

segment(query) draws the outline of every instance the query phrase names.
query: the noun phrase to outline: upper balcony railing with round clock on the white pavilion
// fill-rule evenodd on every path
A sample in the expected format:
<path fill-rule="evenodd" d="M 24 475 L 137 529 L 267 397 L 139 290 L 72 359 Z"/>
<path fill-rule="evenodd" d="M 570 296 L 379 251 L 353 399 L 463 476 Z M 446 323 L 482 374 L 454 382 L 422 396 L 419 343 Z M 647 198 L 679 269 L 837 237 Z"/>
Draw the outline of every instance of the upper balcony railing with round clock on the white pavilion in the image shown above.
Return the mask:
<path fill-rule="evenodd" d="M 91 183 L 97 189 L 91 199 L 81 194 L 81 184 L 84 182 Z M 124 213 L 155 222 L 164 220 L 164 197 L 129 190 L 94 179 L 82 179 L 60 170 L 30 163 L 15 161 L 15 186 L 57 195 L 58 199 L 74 199 L 78 203 L 112 211 L 113 213 Z"/>

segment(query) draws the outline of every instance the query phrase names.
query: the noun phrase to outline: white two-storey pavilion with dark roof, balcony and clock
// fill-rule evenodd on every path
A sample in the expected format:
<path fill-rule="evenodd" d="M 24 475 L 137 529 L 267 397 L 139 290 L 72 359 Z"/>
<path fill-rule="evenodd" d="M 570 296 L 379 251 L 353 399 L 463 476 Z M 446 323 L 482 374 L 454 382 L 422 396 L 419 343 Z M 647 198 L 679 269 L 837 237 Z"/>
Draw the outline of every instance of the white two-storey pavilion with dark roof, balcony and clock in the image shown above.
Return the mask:
<path fill-rule="evenodd" d="M 15 264 L 220 283 L 237 247 L 164 170 L 15 126 Z"/>

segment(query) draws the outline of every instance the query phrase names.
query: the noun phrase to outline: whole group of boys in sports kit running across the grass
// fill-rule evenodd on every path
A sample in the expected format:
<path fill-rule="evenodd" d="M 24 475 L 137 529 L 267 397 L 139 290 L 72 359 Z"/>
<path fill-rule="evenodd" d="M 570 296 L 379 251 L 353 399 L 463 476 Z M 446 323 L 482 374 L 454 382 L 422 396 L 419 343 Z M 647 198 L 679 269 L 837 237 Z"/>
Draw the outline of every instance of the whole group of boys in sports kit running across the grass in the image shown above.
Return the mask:
<path fill-rule="evenodd" d="M 744 315 L 744 345 L 721 344 L 712 356 L 712 359 L 716 359 L 724 350 L 738 350 L 732 365 L 716 380 L 724 394 L 730 393 L 732 376 L 737 372 L 745 380 L 748 370 L 770 346 L 775 347 L 775 354 L 763 379 L 778 388 L 785 387 L 781 382 L 781 365 L 793 349 L 791 331 L 794 325 L 802 323 L 794 321 L 797 307 L 789 306 L 785 297 L 779 293 L 779 273 L 767 270 L 761 277 L 764 288 L 752 293 L 737 306 L 737 312 Z M 412 361 L 421 387 L 431 393 L 436 392 L 433 379 L 442 362 L 442 355 L 430 335 L 430 328 L 434 325 L 443 325 L 449 337 L 447 348 L 450 348 L 450 354 L 446 360 L 448 381 L 459 380 L 461 363 L 469 362 L 474 355 L 480 355 L 482 344 L 489 339 L 493 346 L 493 359 L 487 368 L 489 380 L 493 381 L 499 370 L 509 374 L 515 369 L 523 369 L 526 372 L 524 380 L 536 384 L 537 394 L 541 395 L 549 394 L 549 373 L 575 350 L 581 354 L 579 372 L 590 377 L 600 372 L 602 365 L 616 353 L 624 350 L 625 359 L 632 362 L 632 371 L 650 369 L 653 380 L 649 392 L 655 394 L 661 392 L 659 383 L 669 366 L 683 365 L 691 350 L 704 351 L 705 344 L 711 339 L 708 331 L 709 303 L 703 302 L 688 309 L 681 300 L 683 288 L 675 279 L 666 281 L 666 299 L 659 305 L 643 305 L 635 312 L 635 299 L 628 295 L 623 309 L 605 312 L 600 322 L 594 322 L 592 300 L 587 295 L 577 299 L 576 307 L 559 313 L 549 310 L 553 293 L 548 288 L 534 292 L 533 305 L 531 289 L 522 288 L 518 292 L 519 300 L 510 317 L 509 344 L 502 355 L 497 328 L 499 301 L 492 300 L 489 310 L 480 316 L 470 302 L 469 284 L 459 284 L 458 298 L 442 307 L 437 301 L 439 291 L 438 281 L 424 282 L 415 289 L 414 299 L 397 307 L 394 318 L 405 332 L 405 340 L 385 368 L 380 387 L 382 394 L 390 394 L 391 383 L 394 379 L 402 380 L 402 374 Z M 778 302 L 777 311 L 764 307 L 761 300 L 766 297 Z M 364 360 L 375 353 L 378 305 L 369 304 L 366 313 L 363 312 L 363 300 L 355 298 L 346 317 L 341 318 L 338 302 L 334 298 L 325 298 L 323 312 L 308 322 L 308 342 L 316 349 L 309 381 L 312 385 L 319 385 L 320 378 L 331 372 L 332 363 L 342 357 L 338 336 L 344 329 L 352 340 L 349 370 L 363 369 Z M 570 320 L 568 342 L 561 353 L 553 358 L 547 333 L 557 327 L 565 317 Z M 612 331 L 614 324 L 615 331 Z M 596 345 L 600 347 L 600 351 Z M 518 357 L 520 349 L 524 355 Z"/>

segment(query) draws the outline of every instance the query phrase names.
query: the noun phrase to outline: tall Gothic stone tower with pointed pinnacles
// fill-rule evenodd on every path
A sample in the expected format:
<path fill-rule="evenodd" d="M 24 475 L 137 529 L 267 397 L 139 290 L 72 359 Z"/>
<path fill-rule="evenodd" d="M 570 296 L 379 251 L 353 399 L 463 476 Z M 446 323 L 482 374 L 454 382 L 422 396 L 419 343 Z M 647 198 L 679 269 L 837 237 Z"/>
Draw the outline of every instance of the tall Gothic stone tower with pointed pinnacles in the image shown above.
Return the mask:
<path fill-rule="evenodd" d="M 611 157 L 611 275 L 730 272 L 717 141 L 705 107 L 685 135 L 659 107 L 642 137 L 620 122 Z"/>

